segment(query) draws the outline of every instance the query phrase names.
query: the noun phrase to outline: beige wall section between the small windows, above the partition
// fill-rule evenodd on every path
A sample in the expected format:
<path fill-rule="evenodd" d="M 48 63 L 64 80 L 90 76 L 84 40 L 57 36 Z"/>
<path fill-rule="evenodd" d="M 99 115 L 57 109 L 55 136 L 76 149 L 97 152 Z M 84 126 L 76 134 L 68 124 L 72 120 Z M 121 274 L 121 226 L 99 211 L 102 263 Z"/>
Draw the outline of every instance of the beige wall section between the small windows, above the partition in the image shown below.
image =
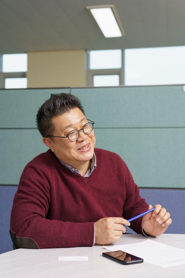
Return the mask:
<path fill-rule="evenodd" d="M 38 51 L 27 54 L 28 88 L 86 86 L 85 50 Z"/>

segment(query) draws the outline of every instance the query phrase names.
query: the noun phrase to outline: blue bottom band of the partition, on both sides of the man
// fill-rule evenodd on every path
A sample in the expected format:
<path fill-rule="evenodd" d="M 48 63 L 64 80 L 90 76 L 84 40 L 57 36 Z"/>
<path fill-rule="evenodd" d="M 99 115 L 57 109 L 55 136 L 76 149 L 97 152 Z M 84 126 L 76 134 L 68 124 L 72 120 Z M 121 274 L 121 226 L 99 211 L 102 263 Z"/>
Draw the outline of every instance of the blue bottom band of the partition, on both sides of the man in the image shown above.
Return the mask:
<path fill-rule="evenodd" d="M 0 253 L 12 250 L 9 234 L 10 213 L 17 186 L 0 186 Z M 184 189 L 140 189 L 140 195 L 148 204 L 161 204 L 169 211 L 173 220 L 165 233 L 185 233 Z M 127 233 L 134 233 L 127 227 Z"/>

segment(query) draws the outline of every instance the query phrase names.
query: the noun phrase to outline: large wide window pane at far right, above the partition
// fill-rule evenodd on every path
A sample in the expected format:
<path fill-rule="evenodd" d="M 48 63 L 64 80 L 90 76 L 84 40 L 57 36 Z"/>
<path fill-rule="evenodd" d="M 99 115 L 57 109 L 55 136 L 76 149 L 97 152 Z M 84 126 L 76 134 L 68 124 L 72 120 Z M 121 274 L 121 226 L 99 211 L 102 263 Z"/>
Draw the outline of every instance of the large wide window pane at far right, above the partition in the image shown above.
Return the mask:
<path fill-rule="evenodd" d="M 125 50 L 125 85 L 184 84 L 185 46 Z"/>

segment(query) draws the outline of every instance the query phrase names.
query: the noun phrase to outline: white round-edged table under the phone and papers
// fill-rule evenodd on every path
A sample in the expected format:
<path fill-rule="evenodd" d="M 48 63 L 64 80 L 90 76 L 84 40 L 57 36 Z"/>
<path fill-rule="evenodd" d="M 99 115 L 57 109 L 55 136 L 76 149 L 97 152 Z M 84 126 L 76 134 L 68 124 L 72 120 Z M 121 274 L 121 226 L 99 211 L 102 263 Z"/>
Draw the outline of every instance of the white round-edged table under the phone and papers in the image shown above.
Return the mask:
<path fill-rule="evenodd" d="M 142 235 L 123 235 L 114 244 L 141 242 Z M 185 249 L 185 235 L 163 234 L 152 240 Z M 185 278 L 185 265 L 162 268 L 143 262 L 124 266 L 102 256 L 103 246 L 17 249 L 0 255 L 0 276 L 3 278 L 51 277 L 128 277 L 128 278 Z M 59 256 L 88 256 L 88 261 L 58 261 Z"/>

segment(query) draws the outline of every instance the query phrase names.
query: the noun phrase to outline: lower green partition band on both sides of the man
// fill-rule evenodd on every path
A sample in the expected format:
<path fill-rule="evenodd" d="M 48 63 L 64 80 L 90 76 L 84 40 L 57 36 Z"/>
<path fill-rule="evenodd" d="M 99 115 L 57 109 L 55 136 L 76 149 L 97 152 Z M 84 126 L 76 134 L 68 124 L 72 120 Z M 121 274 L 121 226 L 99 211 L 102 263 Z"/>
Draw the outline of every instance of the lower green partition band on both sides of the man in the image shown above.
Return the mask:
<path fill-rule="evenodd" d="M 0 134 L 6 139 L 1 144 L 0 184 L 18 184 L 25 165 L 48 148 L 36 129 L 0 130 Z M 184 129 L 95 128 L 95 135 L 96 147 L 118 153 L 139 187 L 185 187 Z"/>

